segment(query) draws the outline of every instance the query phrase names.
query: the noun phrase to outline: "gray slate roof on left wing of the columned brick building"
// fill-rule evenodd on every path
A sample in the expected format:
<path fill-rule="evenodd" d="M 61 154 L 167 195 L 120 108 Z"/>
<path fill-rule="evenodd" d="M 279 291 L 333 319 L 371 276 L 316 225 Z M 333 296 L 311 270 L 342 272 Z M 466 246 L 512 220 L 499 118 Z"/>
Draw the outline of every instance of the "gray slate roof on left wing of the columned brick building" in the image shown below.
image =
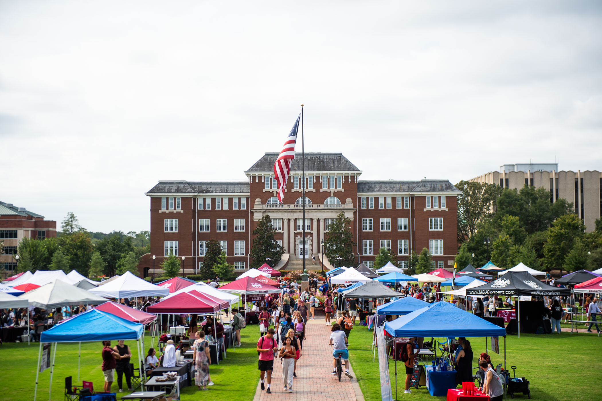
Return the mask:
<path fill-rule="evenodd" d="M 248 194 L 247 181 L 160 181 L 147 194 Z"/>

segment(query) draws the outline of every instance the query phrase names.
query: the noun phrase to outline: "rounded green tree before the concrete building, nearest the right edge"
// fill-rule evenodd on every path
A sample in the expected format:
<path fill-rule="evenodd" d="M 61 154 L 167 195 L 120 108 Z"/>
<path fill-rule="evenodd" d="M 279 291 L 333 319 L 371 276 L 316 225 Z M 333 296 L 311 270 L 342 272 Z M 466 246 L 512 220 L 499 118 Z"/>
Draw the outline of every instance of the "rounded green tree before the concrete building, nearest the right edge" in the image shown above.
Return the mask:
<path fill-rule="evenodd" d="M 583 221 L 574 214 L 563 215 L 548 229 L 548 241 L 544 244 L 544 266 L 547 269 L 562 268 L 566 255 L 575 241 L 585 232 Z"/>

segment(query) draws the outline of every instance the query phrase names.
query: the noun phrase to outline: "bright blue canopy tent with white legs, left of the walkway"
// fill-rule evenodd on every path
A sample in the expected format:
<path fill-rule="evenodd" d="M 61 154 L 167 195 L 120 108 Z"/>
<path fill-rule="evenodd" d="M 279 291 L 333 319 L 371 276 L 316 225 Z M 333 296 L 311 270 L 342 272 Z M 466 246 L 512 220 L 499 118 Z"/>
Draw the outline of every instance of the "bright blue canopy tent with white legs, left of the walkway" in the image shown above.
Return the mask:
<path fill-rule="evenodd" d="M 98 309 L 92 309 L 78 314 L 63 323 L 53 326 L 40 335 L 40 350 L 38 353 L 38 364 L 36 370 L 36 389 L 34 390 L 34 401 L 37 396 L 37 383 L 40 374 L 40 357 L 42 355 L 43 343 L 55 343 L 52 353 L 50 369 L 49 396 L 52 394 L 52 373 L 54 372 L 54 361 L 57 355 L 58 343 L 80 343 L 79 357 L 81 357 L 82 341 L 104 341 L 104 340 L 138 340 L 144 333 L 144 325 L 130 322 L 114 314 Z M 138 349 L 138 360 L 143 356 L 144 344 L 136 341 Z M 140 377 L 143 377 L 143 367 L 140 366 Z M 79 360 L 78 360 L 79 375 Z"/>

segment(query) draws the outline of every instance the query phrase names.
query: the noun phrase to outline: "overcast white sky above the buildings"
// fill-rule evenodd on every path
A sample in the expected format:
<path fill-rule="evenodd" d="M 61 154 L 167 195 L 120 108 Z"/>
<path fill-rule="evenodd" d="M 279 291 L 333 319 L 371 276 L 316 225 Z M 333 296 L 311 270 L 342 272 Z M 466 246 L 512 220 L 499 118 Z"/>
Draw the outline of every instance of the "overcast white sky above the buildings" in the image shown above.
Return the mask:
<path fill-rule="evenodd" d="M 362 179 L 602 170 L 601 4 L 0 1 L 0 200 L 148 230 L 158 180 L 244 180 L 301 103 Z"/>

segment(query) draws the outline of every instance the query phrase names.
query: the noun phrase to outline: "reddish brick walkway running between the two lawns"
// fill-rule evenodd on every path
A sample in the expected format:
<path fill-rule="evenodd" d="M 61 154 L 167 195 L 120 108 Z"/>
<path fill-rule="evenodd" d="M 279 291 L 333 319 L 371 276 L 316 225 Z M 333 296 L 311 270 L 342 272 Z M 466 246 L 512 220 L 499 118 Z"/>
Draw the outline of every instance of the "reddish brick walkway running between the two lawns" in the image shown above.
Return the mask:
<path fill-rule="evenodd" d="M 277 358 L 274 361 L 272 374 L 272 394 L 261 391 L 259 384 L 253 401 L 364 401 L 364 396 L 359 390 L 353 368 L 349 373 L 353 379 L 343 376 L 341 382 L 332 372 L 332 346 L 328 345 L 330 328 L 324 325 L 324 318 L 316 316 L 315 320 L 308 320 L 306 325 L 307 340 L 303 341 L 303 355 L 297 361 L 297 377 L 293 379 L 293 393 L 283 390 L 282 365 Z M 259 375 L 259 371 L 256 371 Z"/>

